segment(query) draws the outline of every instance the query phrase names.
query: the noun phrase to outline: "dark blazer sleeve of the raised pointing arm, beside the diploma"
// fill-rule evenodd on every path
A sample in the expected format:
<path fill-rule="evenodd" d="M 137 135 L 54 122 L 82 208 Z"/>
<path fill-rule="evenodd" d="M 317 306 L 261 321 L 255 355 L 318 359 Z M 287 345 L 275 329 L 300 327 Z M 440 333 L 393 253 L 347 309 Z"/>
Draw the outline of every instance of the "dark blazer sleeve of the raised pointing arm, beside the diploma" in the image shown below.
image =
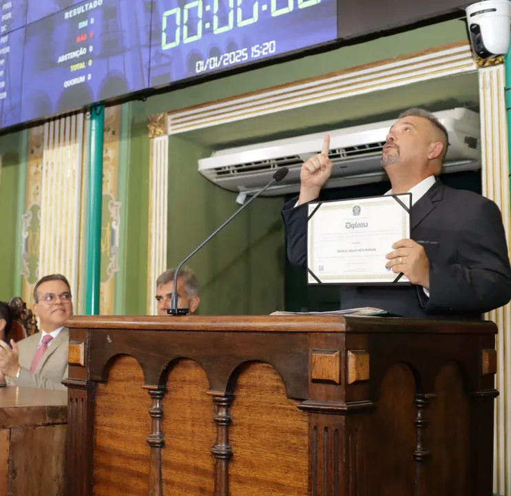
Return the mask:
<path fill-rule="evenodd" d="M 298 205 L 298 196 L 290 200 L 282 209 L 282 219 L 286 229 L 287 258 L 293 265 L 307 266 L 307 204 Z"/>

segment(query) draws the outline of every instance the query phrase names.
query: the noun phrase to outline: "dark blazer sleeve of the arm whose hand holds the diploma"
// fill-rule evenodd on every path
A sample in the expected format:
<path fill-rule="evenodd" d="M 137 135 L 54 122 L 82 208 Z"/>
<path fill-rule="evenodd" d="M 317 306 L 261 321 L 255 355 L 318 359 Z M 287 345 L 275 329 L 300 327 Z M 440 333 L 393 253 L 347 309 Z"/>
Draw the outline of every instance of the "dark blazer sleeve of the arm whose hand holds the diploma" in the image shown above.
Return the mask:
<path fill-rule="evenodd" d="M 430 260 L 427 313 L 486 313 L 511 300 L 511 267 L 499 207 L 481 203 L 461 227 L 457 262 Z"/>

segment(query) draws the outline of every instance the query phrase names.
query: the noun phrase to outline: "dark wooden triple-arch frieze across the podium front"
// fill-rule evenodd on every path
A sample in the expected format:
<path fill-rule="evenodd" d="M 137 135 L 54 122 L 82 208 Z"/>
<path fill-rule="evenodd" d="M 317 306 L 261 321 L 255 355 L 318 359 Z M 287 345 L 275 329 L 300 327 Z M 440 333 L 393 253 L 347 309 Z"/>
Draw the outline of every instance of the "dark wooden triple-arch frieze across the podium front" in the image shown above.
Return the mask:
<path fill-rule="evenodd" d="M 129 355 L 140 364 L 146 386 L 162 387 L 169 364 L 187 358 L 197 362 L 205 371 L 211 391 L 227 393 L 233 372 L 245 362 L 256 361 L 271 365 L 279 373 L 287 397 L 304 399 L 308 395 L 309 354 L 306 351 L 306 335 L 273 335 L 272 345 L 260 342 L 257 334 L 247 334 L 247 346 L 237 347 L 235 335 L 207 333 L 202 335 L 202 339 L 208 342 L 208 346 L 202 350 L 194 349 L 195 333 L 163 334 L 159 346 L 149 350 L 144 349 L 146 335 L 131 330 L 94 329 L 90 336 L 91 346 L 101 350 L 101 353 L 90 357 L 90 379 L 106 381 L 108 364 L 114 357 Z M 223 351 L 225 360 L 219 364 L 216 355 L 208 350 L 217 353 Z"/>

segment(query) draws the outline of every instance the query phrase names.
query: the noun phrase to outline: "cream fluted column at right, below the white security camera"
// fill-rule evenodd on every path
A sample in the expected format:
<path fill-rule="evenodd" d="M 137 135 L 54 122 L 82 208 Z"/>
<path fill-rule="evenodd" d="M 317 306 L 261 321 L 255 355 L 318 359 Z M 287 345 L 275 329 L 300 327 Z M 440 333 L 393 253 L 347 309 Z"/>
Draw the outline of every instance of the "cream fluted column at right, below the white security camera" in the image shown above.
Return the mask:
<path fill-rule="evenodd" d="M 510 185 L 508 122 L 505 109 L 504 57 L 477 61 L 479 68 L 479 112 L 481 116 L 481 179 L 483 195 L 493 200 L 502 212 L 505 232 L 510 244 Z M 508 84 L 510 84 L 508 82 Z M 501 495 L 511 490 L 511 439 L 506 426 L 511 425 L 511 306 L 486 315 L 499 327 L 497 335 L 497 380 L 500 395 L 494 411 L 494 491 Z M 492 402 L 492 395 L 479 395 L 474 401 Z M 482 408 L 482 407 L 481 407 Z M 509 429 L 509 427 L 507 427 Z"/>

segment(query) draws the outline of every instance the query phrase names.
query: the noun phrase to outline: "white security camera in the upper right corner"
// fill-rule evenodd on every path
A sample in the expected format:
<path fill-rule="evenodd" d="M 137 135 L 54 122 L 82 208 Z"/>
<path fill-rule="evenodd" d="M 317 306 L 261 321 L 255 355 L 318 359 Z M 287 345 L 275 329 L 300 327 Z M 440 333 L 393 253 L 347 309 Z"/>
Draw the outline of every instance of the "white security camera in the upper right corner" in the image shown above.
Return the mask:
<path fill-rule="evenodd" d="M 481 59 L 493 59 L 508 53 L 510 5 L 509 0 L 484 0 L 465 9 L 470 43 Z"/>

